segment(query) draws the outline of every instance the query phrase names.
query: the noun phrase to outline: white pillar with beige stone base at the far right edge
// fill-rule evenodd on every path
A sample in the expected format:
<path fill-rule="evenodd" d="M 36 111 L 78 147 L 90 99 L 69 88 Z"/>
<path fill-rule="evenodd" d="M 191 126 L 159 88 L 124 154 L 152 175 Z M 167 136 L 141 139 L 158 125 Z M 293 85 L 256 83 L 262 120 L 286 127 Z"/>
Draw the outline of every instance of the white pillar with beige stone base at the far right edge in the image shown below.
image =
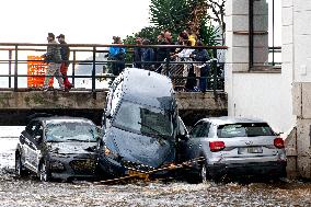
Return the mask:
<path fill-rule="evenodd" d="M 286 0 L 284 22 L 292 18 L 292 26 L 287 25 L 288 39 L 292 38 L 293 61 L 293 114 L 297 116 L 297 166 L 298 175 L 311 179 L 311 1 Z M 291 12 L 290 12 L 291 11 Z M 288 21 L 289 22 L 289 21 Z M 284 25 L 286 27 L 286 25 Z M 286 28 L 285 28 L 286 30 Z M 292 35 L 290 35 L 292 30 Z M 284 35 L 285 36 L 285 35 Z M 290 45 L 284 57 L 288 57 Z M 290 62 L 288 62 L 290 65 Z"/>

